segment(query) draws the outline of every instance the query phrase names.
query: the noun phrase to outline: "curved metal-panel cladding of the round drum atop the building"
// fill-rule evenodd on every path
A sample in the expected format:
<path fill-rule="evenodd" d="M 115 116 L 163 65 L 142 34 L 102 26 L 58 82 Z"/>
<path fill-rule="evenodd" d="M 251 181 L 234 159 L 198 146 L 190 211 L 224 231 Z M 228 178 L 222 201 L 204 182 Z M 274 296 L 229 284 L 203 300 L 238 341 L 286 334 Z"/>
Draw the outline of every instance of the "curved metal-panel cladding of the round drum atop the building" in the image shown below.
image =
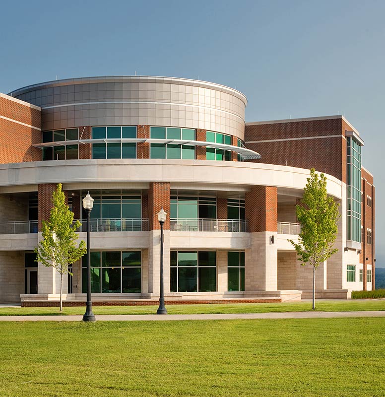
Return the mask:
<path fill-rule="evenodd" d="M 210 82 L 173 77 L 87 77 L 30 85 L 10 95 L 42 108 L 43 130 L 150 125 L 244 138 L 247 99 Z"/>

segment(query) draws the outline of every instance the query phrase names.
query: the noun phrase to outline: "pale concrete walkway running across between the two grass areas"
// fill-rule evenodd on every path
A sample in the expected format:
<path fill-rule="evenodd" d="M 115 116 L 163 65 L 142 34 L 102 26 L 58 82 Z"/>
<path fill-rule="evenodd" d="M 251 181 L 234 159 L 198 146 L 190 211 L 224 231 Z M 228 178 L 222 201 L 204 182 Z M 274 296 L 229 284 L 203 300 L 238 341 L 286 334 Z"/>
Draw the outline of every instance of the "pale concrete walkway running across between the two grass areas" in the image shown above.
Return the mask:
<path fill-rule="evenodd" d="M 367 312 L 285 312 L 238 314 L 134 314 L 101 315 L 96 321 L 183 321 L 183 320 L 257 320 L 257 319 L 331 319 L 346 317 L 385 317 L 385 311 Z M 0 321 L 82 321 L 83 316 L 0 316 Z"/>

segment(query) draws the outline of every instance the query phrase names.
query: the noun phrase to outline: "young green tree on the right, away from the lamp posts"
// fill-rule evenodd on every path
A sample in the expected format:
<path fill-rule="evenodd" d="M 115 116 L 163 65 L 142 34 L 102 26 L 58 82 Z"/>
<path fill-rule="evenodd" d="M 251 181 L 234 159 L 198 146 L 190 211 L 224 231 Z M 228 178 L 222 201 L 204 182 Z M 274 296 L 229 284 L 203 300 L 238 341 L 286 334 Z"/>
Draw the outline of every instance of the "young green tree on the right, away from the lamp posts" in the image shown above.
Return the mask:
<path fill-rule="evenodd" d="M 289 242 L 297 251 L 301 265 L 308 263 L 313 265 L 314 310 L 316 309 L 316 269 L 338 251 L 333 243 L 338 232 L 339 204 L 332 197 L 327 197 L 324 174 L 318 175 L 312 168 L 307 181 L 301 204 L 296 206 L 298 222 L 301 224 L 298 244 L 292 240 Z"/>

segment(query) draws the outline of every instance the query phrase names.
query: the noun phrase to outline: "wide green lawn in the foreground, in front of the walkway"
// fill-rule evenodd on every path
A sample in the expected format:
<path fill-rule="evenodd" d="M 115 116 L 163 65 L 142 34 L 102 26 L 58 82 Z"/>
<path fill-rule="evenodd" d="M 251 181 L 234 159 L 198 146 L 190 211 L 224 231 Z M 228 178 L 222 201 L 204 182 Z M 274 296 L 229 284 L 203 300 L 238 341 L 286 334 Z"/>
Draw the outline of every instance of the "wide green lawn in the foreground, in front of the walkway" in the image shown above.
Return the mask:
<path fill-rule="evenodd" d="M 0 396 L 384 396 L 380 318 L 0 323 Z"/>

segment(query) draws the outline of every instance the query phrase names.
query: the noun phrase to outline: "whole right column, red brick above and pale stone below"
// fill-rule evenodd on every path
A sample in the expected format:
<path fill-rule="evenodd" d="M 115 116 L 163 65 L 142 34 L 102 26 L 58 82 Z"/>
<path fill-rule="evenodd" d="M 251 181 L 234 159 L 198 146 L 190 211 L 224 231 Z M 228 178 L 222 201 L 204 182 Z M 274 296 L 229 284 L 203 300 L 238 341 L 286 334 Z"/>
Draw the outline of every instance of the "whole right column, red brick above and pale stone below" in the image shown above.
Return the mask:
<path fill-rule="evenodd" d="M 245 195 L 251 248 L 245 251 L 245 290 L 276 291 L 277 188 L 253 186 Z"/>

